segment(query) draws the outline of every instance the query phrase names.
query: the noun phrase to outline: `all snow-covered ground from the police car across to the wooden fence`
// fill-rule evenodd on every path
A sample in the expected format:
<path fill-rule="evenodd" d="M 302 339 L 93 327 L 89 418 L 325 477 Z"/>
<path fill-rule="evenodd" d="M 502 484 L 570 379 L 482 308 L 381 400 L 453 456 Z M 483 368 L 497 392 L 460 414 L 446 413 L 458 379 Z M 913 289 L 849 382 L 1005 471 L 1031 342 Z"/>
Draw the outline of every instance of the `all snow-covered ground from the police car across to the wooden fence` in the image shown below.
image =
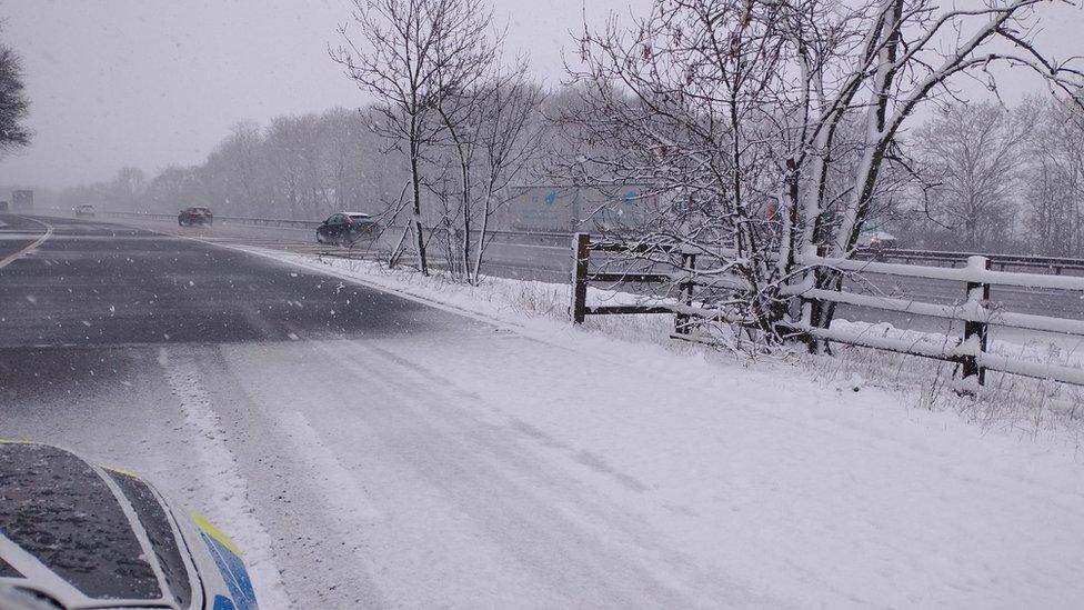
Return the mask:
<path fill-rule="evenodd" d="M 424 332 L 103 352 L 136 383 L 28 406 L 6 433 L 104 448 L 204 512 L 247 551 L 265 608 L 1084 599 L 1072 434 L 663 343 L 661 318 L 573 328 L 565 286 L 252 252 L 441 314 Z M 118 444 L 119 426 L 139 441 Z"/>

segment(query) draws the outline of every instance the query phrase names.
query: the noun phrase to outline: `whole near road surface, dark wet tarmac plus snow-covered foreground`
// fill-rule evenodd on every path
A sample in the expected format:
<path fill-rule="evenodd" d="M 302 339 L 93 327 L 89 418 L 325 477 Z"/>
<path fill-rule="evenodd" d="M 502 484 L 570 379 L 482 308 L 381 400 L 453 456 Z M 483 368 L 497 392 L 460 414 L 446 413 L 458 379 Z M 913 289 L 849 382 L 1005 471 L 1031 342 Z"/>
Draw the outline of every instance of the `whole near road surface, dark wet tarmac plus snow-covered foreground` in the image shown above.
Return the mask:
<path fill-rule="evenodd" d="M 1072 447 L 49 222 L 0 269 L 0 436 L 148 476 L 238 539 L 267 608 L 1084 599 Z"/>

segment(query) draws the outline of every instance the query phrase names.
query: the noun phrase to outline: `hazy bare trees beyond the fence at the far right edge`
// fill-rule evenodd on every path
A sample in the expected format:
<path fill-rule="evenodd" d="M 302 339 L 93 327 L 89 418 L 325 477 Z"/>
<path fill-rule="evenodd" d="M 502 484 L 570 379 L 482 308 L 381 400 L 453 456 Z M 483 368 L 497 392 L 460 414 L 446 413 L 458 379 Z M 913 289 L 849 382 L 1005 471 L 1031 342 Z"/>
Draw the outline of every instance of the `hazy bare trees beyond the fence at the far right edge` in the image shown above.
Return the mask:
<path fill-rule="evenodd" d="M 1084 257 L 1084 113 L 952 103 L 910 138 L 914 189 L 883 226 L 913 248 Z"/>

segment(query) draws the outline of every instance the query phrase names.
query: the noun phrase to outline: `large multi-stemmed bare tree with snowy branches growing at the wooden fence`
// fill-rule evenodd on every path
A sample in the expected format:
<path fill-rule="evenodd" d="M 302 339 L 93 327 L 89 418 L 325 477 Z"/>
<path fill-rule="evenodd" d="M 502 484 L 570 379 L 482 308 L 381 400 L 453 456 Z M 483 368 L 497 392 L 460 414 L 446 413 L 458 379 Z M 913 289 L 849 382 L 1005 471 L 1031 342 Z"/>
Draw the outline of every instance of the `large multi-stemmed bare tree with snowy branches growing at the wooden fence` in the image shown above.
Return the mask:
<path fill-rule="evenodd" d="M 706 269 L 684 271 L 719 280 L 732 319 L 777 337 L 787 283 L 842 282 L 796 254 L 851 254 L 884 170 L 909 167 L 899 134 L 921 103 L 951 96 L 958 76 L 994 88 L 993 63 L 1063 92 L 1081 83 L 1084 73 L 1033 44 L 1048 3 L 658 0 L 632 28 L 611 22 L 581 39 L 572 74 L 592 103 L 571 119 L 589 142 L 618 149 L 580 163 L 581 179 L 650 184 L 668 204 L 645 234 L 701 252 Z M 743 286 L 729 288 L 731 274 Z M 806 307 L 797 326 L 832 314 Z"/>

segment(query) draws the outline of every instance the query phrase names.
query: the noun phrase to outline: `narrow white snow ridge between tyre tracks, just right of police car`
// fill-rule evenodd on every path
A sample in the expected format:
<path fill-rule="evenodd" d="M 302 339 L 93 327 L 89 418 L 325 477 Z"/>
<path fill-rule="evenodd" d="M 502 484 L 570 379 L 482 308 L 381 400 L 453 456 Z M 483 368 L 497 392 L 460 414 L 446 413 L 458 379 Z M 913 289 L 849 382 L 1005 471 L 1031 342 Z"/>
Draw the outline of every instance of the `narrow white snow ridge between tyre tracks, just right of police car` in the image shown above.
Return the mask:
<path fill-rule="evenodd" d="M 184 411 L 184 422 L 193 432 L 201 462 L 198 468 L 204 489 L 210 492 L 204 504 L 209 512 L 213 511 L 210 517 L 223 526 L 244 552 L 260 606 L 290 608 L 292 604 L 272 559 L 271 537 L 249 503 L 248 483 L 227 444 L 228 436 L 211 407 L 210 396 L 200 382 L 195 360 L 188 350 L 179 352 L 162 347 L 158 350 L 158 363 L 165 371 L 170 390 Z"/>

